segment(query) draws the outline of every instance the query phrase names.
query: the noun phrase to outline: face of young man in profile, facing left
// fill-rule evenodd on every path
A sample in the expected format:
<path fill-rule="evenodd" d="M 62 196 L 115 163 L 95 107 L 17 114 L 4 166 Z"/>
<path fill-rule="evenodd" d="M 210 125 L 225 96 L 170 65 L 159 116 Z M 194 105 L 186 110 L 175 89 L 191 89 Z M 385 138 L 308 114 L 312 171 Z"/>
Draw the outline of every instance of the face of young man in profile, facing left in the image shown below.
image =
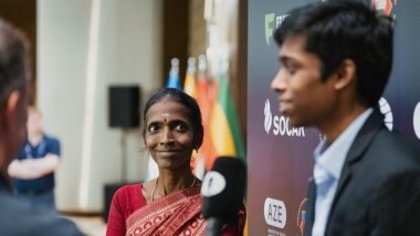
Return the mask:
<path fill-rule="evenodd" d="M 271 83 L 279 94 L 280 111 L 291 126 L 318 126 L 336 106 L 334 79 L 321 79 L 322 63 L 305 51 L 304 35 L 288 36 L 280 49 L 281 67 Z"/>

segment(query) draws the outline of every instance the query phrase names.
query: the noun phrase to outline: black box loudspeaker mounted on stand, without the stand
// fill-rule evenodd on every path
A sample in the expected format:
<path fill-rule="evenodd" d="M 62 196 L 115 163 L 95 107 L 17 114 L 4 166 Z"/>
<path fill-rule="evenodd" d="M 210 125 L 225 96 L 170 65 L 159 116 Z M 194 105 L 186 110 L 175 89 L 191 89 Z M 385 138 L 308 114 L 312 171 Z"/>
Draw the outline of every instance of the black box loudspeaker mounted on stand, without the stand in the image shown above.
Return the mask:
<path fill-rule="evenodd" d="M 109 127 L 138 127 L 140 125 L 139 86 L 111 86 L 108 95 Z"/>

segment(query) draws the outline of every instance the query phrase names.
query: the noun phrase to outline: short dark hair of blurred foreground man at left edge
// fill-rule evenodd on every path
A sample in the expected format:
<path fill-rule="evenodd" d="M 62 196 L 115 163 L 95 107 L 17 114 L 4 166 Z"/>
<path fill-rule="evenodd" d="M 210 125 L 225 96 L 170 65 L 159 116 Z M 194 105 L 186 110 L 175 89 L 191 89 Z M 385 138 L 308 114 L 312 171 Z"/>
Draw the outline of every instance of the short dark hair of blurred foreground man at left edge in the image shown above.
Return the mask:
<path fill-rule="evenodd" d="M 0 109 L 12 90 L 27 92 L 29 79 L 28 41 L 0 18 Z"/>

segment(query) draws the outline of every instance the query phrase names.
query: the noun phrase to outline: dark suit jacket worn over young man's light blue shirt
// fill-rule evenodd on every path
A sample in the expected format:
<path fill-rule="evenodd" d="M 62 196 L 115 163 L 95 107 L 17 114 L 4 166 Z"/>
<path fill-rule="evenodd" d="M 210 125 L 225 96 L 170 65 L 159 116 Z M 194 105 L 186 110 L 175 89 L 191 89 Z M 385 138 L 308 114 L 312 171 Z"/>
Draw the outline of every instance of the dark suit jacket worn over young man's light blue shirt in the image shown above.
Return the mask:
<path fill-rule="evenodd" d="M 309 184 L 305 235 L 316 186 Z M 420 150 L 384 126 L 375 109 L 347 154 L 325 235 L 420 235 Z"/>

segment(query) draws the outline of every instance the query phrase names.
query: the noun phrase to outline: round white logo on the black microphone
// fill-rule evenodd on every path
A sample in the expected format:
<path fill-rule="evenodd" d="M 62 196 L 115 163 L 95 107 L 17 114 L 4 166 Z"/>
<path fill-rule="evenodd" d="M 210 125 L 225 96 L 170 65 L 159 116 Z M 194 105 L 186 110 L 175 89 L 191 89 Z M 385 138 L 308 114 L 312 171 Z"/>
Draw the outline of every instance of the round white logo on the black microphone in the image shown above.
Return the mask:
<path fill-rule="evenodd" d="M 225 185 L 227 181 L 223 175 L 217 171 L 210 171 L 202 180 L 201 194 L 207 197 L 218 195 L 223 192 Z"/>

